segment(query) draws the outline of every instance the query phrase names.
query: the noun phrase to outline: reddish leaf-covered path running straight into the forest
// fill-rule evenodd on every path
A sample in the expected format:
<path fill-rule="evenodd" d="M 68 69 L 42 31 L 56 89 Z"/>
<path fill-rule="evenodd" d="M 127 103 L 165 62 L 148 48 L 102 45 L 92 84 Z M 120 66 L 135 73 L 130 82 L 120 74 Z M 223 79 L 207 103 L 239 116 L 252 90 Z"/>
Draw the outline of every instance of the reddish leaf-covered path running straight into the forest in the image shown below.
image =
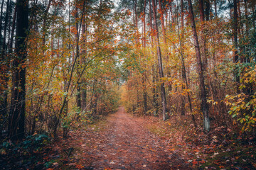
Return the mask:
<path fill-rule="evenodd" d="M 144 121 L 120 107 L 107 117 L 103 130 L 71 132 L 76 140 L 71 146 L 80 148 L 75 158 L 85 169 L 188 169 L 166 142 L 144 127 Z"/>

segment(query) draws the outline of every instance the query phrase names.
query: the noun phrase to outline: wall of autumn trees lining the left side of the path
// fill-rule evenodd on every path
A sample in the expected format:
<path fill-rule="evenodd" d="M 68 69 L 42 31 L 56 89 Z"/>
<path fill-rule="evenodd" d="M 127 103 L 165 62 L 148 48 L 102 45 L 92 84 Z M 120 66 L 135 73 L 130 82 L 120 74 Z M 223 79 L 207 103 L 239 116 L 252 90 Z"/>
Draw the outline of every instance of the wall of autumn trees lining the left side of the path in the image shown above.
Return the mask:
<path fill-rule="evenodd" d="M 107 0 L 11 3 L 1 4 L 0 132 L 11 140 L 60 130 L 67 137 L 73 126 L 114 112 L 126 11 L 112 11 Z"/>

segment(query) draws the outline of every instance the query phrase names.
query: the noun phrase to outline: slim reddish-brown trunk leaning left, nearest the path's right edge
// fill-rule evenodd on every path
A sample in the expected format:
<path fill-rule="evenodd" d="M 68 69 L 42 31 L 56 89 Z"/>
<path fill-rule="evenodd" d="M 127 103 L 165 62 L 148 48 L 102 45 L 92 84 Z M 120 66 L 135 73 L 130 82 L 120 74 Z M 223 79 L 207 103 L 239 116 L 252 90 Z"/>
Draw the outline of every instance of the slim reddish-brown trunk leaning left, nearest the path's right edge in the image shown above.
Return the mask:
<path fill-rule="evenodd" d="M 156 31 L 156 50 L 157 50 L 157 60 L 159 64 L 159 77 L 160 81 L 161 78 L 164 78 L 164 72 L 163 72 L 163 64 L 161 59 L 161 49 L 160 49 L 160 43 L 159 43 L 159 31 L 157 28 L 157 21 L 156 21 L 156 6 L 154 0 L 152 0 L 152 9 L 153 9 L 153 16 L 154 16 L 154 31 Z M 166 113 L 166 91 L 164 87 L 164 83 L 161 83 L 160 85 L 161 90 L 161 102 L 163 106 L 163 119 L 166 120 L 168 118 L 168 115 Z"/>

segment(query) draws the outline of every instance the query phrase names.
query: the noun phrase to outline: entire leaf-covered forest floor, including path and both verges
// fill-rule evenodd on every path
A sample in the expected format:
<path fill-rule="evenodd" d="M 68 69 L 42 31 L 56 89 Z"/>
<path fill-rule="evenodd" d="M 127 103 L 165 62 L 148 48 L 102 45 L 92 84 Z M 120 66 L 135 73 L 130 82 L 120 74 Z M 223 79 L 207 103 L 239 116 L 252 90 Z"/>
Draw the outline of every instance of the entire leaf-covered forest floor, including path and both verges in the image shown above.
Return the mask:
<path fill-rule="evenodd" d="M 256 169 L 255 136 L 243 141 L 223 127 L 206 134 L 193 127 L 189 115 L 163 121 L 120 107 L 71 130 L 68 138 L 60 136 L 4 142 L 0 169 Z"/>

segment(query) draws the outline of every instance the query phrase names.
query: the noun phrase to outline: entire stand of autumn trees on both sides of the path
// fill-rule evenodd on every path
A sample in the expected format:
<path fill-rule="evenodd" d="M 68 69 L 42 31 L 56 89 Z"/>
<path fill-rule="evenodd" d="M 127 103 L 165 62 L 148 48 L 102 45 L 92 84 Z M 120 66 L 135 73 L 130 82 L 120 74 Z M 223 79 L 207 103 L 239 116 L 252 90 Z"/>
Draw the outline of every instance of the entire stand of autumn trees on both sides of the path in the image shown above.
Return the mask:
<path fill-rule="evenodd" d="M 122 91 L 130 113 L 255 129 L 255 1 L 0 6 L 0 135 L 67 137 L 112 113 Z"/>

